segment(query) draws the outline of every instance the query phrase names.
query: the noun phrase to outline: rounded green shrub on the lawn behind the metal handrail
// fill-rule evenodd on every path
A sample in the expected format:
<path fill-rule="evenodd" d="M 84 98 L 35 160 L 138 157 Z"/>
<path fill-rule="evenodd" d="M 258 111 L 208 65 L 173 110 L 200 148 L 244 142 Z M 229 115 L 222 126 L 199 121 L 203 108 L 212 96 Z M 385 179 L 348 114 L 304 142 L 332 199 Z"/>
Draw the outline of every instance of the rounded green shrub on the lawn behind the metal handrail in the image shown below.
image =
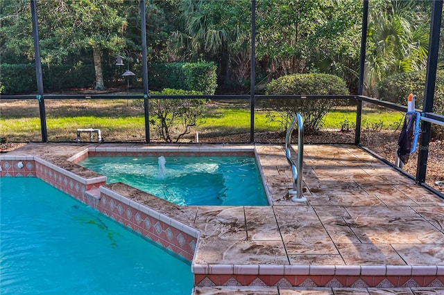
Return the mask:
<path fill-rule="evenodd" d="M 307 73 L 284 75 L 272 80 L 266 87 L 268 95 L 348 95 L 345 81 L 336 75 L 323 73 Z M 307 100 L 307 99 L 271 99 L 266 107 L 278 111 L 278 116 L 269 116 L 278 120 L 287 129 L 291 118 L 300 113 L 304 120 L 307 133 L 318 132 L 322 127 L 323 118 L 332 107 L 343 102 L 338 100 Z"/>

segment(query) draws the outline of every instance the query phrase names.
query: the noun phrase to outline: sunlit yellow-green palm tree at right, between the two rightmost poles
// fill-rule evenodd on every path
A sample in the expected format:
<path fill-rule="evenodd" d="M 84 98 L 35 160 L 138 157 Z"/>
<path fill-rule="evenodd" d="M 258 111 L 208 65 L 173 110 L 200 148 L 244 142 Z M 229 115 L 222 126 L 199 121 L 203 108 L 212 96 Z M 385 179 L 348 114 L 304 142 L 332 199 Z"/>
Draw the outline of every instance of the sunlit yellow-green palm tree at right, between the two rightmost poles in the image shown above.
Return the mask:
<path fill-rule="evenodd" d="M 366 94 L 390 75 L 425 69 L 429 34 L 423 21 L 418 19 L 422 12 L 414 1 L 392 1 L 382 12 L 375 8 L 370 13 L 364 71 Z"/>

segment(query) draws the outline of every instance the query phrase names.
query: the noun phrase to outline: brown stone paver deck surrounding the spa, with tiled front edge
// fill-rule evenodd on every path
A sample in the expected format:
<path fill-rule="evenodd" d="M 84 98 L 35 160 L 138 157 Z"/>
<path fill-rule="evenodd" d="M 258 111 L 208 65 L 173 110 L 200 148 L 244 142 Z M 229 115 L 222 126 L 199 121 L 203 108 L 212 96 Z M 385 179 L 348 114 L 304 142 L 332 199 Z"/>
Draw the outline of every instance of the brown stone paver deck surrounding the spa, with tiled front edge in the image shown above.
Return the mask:
<path fill-rule="evenodd" d="M 82 169 L 66 160 L 99 146 L 117 145 L 33 143 L 5 155 L 35 155 L 75 173 Z M 178 207 L 163 200 L 147 205 L 200 231 L 191 266 L 195 294 L 239 294 L 248 288 L 253 294 L 342 294 L 343 287 L 366 288 L 357 294 L 394 287 L 405 294 L 423 287 L 444 294 L 443 199 L 355 145 L 305 145 L 307 202 L 292 202 L 284 148 L 255 149 L 272 206 Z M 134 191 L 107 186 L 128 198 Z M 327 288 L 304 293 L 305 287 Z"/>

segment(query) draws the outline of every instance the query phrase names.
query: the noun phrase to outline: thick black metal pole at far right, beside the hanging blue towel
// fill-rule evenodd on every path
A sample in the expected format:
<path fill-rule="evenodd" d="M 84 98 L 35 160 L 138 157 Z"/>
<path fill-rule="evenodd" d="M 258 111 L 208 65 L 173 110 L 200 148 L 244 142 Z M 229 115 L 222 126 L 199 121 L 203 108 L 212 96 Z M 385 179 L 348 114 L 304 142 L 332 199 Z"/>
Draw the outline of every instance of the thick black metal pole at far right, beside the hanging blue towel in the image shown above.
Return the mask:
<path fill-rule="evenodd" d="M 425 74 L 424 101 L 422 112 L 432 112 L 436 69 L 438 67 L 439 33 L 441 30 L 443 0 L 433 1 L 432 19 L 430 21 L 429 56 L 427 57 L 427 73 Z M 416 183 L 425 182 L 427 172 L 427 158 L 429 157 L 430 127 L 431 123 L 422 121 L 422 133 L 419 140 L 418 165 L 416 166 Z"/>

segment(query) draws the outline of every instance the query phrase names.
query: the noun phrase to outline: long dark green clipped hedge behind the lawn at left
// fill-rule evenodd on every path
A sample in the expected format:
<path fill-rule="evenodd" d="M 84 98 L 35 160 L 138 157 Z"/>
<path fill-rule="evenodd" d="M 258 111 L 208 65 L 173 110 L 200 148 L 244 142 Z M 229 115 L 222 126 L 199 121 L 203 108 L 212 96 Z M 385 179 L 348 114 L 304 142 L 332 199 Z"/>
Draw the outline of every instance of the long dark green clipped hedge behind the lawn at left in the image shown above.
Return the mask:
<path fill-rule="evenodd" d="M 131 69 L 137 81 L 132 87 L 142 87 L 142 64 Z M 107 85 L 122 79 L 121 68 L 103 64 Z M 30 93 L 37 91 L 34 64 L 0 64 L 3 94 Z M 93 64 L 50 65 L 42 67 L 44 90 L 94 87 Z M 213 62 L 164 63 L 148 65 L 148 87 L 153 90 L 184 89 L 212 95 L 216 91 L 216 65 Z"/>

